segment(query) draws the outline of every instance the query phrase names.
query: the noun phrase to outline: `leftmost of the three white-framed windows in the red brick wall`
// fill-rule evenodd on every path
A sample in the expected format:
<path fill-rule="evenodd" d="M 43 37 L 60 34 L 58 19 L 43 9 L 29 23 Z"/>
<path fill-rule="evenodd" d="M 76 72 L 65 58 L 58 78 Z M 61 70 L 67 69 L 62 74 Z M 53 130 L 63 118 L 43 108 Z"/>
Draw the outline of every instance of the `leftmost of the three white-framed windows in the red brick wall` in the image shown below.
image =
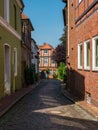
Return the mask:
<path fill-rule="evenodd" d="M 82 43 L 78 45 L 78 68 L 82 69 Z"/>

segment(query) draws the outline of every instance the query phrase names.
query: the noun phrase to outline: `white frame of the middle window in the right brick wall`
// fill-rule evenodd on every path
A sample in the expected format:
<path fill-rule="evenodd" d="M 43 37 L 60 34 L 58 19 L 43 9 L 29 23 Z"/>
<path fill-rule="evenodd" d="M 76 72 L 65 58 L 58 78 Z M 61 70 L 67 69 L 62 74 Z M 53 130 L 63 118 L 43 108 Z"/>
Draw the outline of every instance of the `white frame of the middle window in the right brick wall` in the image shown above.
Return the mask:
<path fill-rule="evenodd" d="M 84 69 L 90 70 L 90 65 L 87 66 L 87 44 L 90 44 L 90 40 L 84 42 Z"/>

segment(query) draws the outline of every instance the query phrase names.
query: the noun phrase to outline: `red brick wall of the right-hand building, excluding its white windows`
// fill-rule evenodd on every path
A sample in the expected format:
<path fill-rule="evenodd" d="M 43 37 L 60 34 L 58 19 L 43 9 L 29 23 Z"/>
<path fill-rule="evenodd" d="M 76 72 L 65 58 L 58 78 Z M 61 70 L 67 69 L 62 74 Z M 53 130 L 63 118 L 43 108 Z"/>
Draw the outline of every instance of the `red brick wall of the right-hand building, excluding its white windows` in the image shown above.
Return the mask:
<path fill-rule="evenodd" d="M 98 106 L 98 71 L 92 70 L 92 38 L 98 36 L 98 2 L 82 0 L 78 3 L 78 0 L 74 2 L 70 0 L 68 7 L 69 89 L 81 99 L 86 99 L 89 94 L 91 103 Z M 86 40 L 90 41 L 90 70 L 84 69 L 84 42 Z M 83 47 L 82 69 L 78 69 L 78 44 L 80 42 Z"/>

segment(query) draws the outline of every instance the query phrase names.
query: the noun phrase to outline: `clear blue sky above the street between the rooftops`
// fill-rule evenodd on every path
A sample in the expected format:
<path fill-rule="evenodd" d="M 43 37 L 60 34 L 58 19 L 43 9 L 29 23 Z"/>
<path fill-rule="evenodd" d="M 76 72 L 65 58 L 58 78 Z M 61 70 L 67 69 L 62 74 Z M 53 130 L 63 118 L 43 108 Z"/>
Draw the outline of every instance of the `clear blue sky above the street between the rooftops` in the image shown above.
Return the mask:
<path fill-rule="evenodd" d="M 32 38 L 38 45 L 49 43 L 53 47 L 60 44 L 64 23 L 62 0 L 23 0 L 25 15 L 30 19 L 34 31 Z"/>

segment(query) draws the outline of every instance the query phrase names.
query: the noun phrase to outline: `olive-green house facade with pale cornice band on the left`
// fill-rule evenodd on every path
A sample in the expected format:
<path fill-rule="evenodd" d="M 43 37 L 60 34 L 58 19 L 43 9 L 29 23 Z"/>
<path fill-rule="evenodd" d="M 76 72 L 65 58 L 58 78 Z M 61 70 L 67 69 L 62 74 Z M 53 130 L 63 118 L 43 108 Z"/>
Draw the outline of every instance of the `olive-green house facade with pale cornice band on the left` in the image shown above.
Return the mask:
<path fill-rule="evenodd" d="M 0 98 L 21 88 L 22 0 L 0 0 Z"/>

